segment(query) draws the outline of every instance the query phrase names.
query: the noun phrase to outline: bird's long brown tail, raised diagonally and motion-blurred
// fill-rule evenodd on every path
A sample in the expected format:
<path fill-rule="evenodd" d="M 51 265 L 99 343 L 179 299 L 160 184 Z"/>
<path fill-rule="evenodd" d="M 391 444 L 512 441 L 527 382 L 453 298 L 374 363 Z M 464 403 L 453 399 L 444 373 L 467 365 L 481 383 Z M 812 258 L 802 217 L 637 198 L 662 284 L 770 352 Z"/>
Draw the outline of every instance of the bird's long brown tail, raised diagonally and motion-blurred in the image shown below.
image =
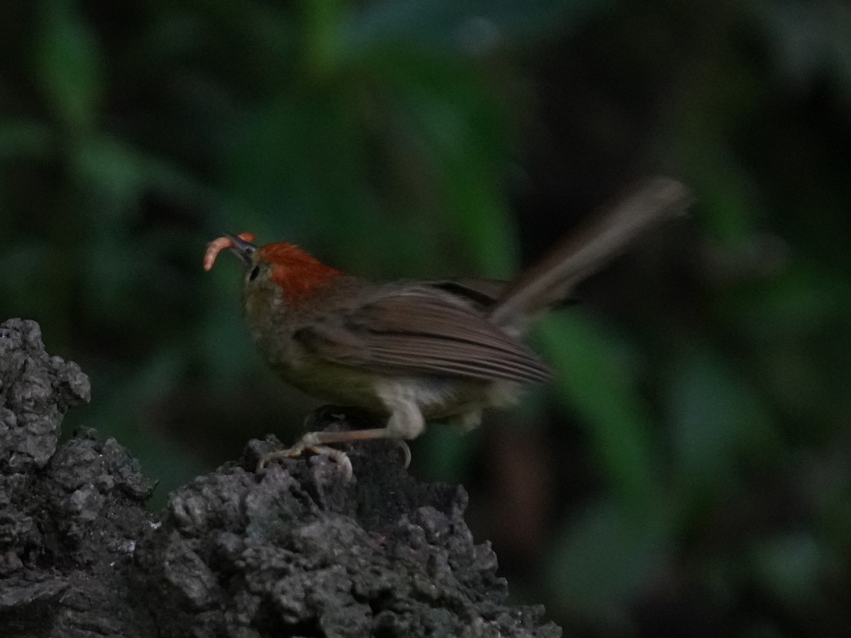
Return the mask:
<path fill-rule="evenodd" d="M 563 299 L 637 236 L 662 219 L 683 214 L 691 202 L 690 191 L 676 179 L 643 182 L 512 282 L 491 310 L 491 321 L 512 326 Z"/>

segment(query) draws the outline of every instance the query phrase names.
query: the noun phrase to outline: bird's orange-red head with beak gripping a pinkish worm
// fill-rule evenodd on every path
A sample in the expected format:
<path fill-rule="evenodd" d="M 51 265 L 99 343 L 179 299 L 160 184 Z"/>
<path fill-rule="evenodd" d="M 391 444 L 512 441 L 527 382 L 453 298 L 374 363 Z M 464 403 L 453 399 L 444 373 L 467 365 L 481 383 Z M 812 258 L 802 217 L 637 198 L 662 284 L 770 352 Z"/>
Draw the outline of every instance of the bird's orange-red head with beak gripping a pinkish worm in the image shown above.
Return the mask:
<path fill-rule="evenodd" d="M 255 294 L 280 293 L 288 304 L 296 304 L 312 291 L 342 273 L 288 242 L 256 246 L 254 234 L 226 235 L 209 243 L 204 253 L 204 270 L 213 268 L 225 248 L 237 256 L 245 271 L 246 299 Z"/>

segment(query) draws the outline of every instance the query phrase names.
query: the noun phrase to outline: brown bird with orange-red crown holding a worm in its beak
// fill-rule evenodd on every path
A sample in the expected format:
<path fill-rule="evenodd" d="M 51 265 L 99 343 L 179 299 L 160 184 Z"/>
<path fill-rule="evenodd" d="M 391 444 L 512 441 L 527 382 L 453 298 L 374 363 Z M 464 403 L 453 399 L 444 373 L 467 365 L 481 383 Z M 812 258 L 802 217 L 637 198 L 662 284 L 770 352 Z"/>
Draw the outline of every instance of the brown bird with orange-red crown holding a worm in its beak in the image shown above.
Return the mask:
<path fill-rule="evenodd" d="M 245 318 L 271 368 L 311 396 L 383 421 L 369 430 L 308 432 L 260 467 L 310 450 L 351 475 L 346 453 L 328 444 L 414 439 L 427 420 L 476 427 L 484 408 L 510 405 L 523 385 L 550 376 L 521 340 L 529 322 L 654 223 L 683 213 L 690 199 L 676 180 L 648 180 L 514 282 L 375 283 L 287 242 L 256 246 L 250 233 L 210 242 L 206 271 L 225 248 L 243 265 Z"/>

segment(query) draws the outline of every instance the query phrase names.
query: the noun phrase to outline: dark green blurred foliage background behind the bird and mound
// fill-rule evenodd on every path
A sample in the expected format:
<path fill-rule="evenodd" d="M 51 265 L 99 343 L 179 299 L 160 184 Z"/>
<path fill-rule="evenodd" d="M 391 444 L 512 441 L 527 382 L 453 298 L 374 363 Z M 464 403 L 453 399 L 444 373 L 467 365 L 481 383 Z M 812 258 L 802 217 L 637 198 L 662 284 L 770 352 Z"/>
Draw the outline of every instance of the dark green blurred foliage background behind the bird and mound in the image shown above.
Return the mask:
<path fill-rule="evenodd" d="M 460 481 L 566 635 L 848 635 L 851 8 L 614 0 L 0 4 L 0 320 L 41 322 L 152 506 L 298 435 L 224 231 L 373 277 L 511 276 L 631 180 L 692 214 L 532 339 Z"/>

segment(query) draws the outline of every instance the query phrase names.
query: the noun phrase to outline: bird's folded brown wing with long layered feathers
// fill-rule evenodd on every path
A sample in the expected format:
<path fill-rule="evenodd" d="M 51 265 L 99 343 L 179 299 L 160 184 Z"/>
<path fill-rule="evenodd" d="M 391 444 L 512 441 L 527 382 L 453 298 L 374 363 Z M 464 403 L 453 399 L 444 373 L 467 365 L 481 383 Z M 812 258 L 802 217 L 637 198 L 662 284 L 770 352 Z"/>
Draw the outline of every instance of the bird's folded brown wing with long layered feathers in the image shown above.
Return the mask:
<path fill-rule="evenodd" d="M 324 359 L 380 373 L 541 381 L 550 369 L 470 304 L 425 287 L 337 310 L 295 338 Z"/>

